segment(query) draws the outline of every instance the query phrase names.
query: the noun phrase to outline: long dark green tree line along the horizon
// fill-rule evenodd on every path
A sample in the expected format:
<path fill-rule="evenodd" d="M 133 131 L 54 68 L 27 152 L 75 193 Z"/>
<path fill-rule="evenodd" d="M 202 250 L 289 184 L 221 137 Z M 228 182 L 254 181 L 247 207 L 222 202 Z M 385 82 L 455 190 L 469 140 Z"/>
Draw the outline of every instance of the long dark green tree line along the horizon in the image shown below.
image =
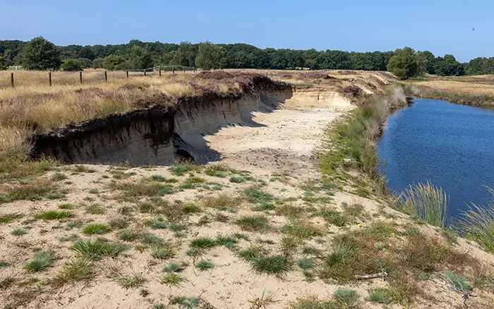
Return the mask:
<path fill-rule="evenodd" d="M 385 71 L 395 52 L 343 52 L 315 49 L 260 49 L 249 44 L 169 44 L 131 40 L 128 44 L 68 45 L 57 47 L 43 37 L 30 42 L 0 40 L 0 69 L 23 66 L 32 70 L 79 71 L 83 68 L 107 70 L 144 69 L 154 66 L 195 66 L 204 69 L 346 69 Z M 413 49 L 412 49 L 413 51 Z M 494 72 L 494 59 L 474 59 L 459 63 L 452 55 L 434 56 L 415 52 L 417 72 L 438 75 L 484 74 Z M 394 61 L 395 63 L 399 63 Z M 392 66 L 393 67 L 393 66 Z M 410 76 L 411 76 L 410 75 Z"/>

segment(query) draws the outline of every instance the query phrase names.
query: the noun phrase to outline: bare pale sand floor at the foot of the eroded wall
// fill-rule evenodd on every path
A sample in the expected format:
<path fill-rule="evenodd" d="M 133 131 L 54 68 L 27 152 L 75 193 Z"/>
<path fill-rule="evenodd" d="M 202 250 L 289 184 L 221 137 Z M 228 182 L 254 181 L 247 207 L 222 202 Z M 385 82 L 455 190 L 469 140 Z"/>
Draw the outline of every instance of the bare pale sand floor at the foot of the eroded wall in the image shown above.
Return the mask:
<path fill-rule="evenodd" d="M 297 99 L 272 113 L 253 113 L 258 126 L 222 128 L 205 140 L 222 155 L 222 162 L 236 169 L 259 175 L 311 176 L 316 172 L 314 155 L 324 129 L 351 107 L 339 96 L 312 104 Z"/>

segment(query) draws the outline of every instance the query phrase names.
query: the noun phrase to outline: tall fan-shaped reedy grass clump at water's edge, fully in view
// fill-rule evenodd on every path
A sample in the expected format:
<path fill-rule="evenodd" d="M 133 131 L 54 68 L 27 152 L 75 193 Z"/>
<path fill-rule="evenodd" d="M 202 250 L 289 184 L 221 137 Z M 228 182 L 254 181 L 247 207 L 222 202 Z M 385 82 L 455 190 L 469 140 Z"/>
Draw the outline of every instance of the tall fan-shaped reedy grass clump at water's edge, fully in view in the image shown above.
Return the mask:
<path fill-rule="evenodd" d="M 409 186 L 397 199 L 399 209 L 414 214 L 428 224 L 445 227 L 447 195 L 441 187 L 427 181 Z"/>

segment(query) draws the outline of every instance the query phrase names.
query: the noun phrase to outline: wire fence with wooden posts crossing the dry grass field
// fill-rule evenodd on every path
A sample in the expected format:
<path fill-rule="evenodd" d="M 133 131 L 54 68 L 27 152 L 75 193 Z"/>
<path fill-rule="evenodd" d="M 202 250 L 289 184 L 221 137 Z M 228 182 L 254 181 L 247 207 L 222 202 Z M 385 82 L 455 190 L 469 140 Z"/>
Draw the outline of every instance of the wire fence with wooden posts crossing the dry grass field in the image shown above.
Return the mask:
<path fill-rule="evenodd" d="M 132 70 L 0 71 L 0 88 L 32 85 L 80 85 L 129 78 L 195 73 L 193 66 L 155 66 Z"/>

